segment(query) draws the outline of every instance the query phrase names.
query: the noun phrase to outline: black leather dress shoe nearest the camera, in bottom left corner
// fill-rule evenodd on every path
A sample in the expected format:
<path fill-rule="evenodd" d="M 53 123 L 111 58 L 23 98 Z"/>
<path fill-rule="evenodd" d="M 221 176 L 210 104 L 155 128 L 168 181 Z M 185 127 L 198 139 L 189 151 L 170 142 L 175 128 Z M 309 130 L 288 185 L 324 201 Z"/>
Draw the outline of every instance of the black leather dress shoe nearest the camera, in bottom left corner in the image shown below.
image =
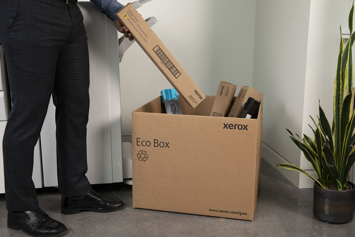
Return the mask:
<path fill-rule="evenodd" d="M 34 211 L 7 212 L 7 227 L 21 229 L 31 236 L 55 237 L 67 232 L 65 225 L 54 220 L 40 208 Z"/>

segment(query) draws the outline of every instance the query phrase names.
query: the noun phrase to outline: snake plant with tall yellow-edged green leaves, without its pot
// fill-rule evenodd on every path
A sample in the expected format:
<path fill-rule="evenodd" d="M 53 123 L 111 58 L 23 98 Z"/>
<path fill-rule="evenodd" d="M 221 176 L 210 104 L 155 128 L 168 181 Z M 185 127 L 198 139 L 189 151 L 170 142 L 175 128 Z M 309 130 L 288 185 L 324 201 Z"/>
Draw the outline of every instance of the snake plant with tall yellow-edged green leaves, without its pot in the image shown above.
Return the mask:
<path fill-rule="evenodd" d="M 291 134 L 291 140 L 301 149 L 306 159 L 311 162 L 318 179 L 292 164 L 281 163 L 276 166 L 304 173 L 314 179 L 322 188 L 328 188 L 333 184 L 337 190 L 342 190 L 348 182 L 349 171 L 355 162 L 355 103 L 351 106 L 352 100 L 354 101 L 352 98 L 353 58 L 351 51 L 355 40 L 355 32 L 353 34 L 353 13 L 354 4 L 349 14 L 350 37 L 345 47 L 343 45 L 342 28 L 340 27 L 341 40 L 337 74 L 334 82 L 332 126 L 329 124 L 323 109 L 319 105 L 317 123 L 310 116 L 315 125 L 315 129 L 310 125 L 314 133 L 314 139 L 305 134 L 303 138 L 295 134 L 297 139 L 287 129 Z"/>

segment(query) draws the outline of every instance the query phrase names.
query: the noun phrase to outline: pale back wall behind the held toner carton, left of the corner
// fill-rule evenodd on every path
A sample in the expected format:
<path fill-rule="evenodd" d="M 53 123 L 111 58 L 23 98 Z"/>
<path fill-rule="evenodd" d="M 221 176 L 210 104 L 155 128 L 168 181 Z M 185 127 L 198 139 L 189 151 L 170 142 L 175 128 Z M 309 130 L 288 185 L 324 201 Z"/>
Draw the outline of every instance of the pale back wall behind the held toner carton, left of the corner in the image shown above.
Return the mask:
<path fill-rule="evenodd" d="M 120 1 L 126 4 L 129 1 Z M 256 0 L 152 0 L 138 9 L 154 16 L 153 31 L 205 95 L 219 81 L 252 86 Z M 172 88 L 137 43 L 120 63 L 122 135 L 131 136 L 131 112 Z"/>

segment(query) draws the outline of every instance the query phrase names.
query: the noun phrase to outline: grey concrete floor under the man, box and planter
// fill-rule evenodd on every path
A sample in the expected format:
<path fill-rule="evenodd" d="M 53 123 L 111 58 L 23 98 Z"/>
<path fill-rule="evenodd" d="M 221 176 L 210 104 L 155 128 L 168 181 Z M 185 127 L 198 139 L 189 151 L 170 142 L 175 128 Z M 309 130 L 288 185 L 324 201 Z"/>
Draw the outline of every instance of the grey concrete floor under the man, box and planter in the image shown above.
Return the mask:
<path fill-rule="evenodd" d="M 67 226 L 65 237 L 355 236 L 355 220 L 335 225 L 316 219 L 312 213 L 313 189 L 297 189 L 265 160 L 253 221 L 133 209 L 130 185 L 102 184 L 93 188 L 104 196 L 122 199 L 126 208 L 110 213 L 62 215 L 61 195 L 56 189 L 38 189 L 40 207 Z M 7 228 L 4 194 L 0 194 L 0 203 L 0 236 L 27 236 L 21 230 Z"/>

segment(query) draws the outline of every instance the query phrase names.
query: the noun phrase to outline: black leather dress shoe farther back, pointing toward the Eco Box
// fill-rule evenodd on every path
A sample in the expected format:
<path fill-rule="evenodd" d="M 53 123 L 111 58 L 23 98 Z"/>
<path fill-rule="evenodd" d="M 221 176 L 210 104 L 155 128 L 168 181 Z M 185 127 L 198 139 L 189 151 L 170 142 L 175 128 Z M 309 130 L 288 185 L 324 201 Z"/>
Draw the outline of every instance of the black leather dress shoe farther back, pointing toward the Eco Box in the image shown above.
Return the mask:
<path fill-rule="evenodd" d="M 61 205 L 61 212 L 66 215 L 76 214 L 80 211 L 118 211 L 125 206 L 122 200 L 103 198 L 95 191 L 75 198 L 65 198 L 62 196 Z"/>

